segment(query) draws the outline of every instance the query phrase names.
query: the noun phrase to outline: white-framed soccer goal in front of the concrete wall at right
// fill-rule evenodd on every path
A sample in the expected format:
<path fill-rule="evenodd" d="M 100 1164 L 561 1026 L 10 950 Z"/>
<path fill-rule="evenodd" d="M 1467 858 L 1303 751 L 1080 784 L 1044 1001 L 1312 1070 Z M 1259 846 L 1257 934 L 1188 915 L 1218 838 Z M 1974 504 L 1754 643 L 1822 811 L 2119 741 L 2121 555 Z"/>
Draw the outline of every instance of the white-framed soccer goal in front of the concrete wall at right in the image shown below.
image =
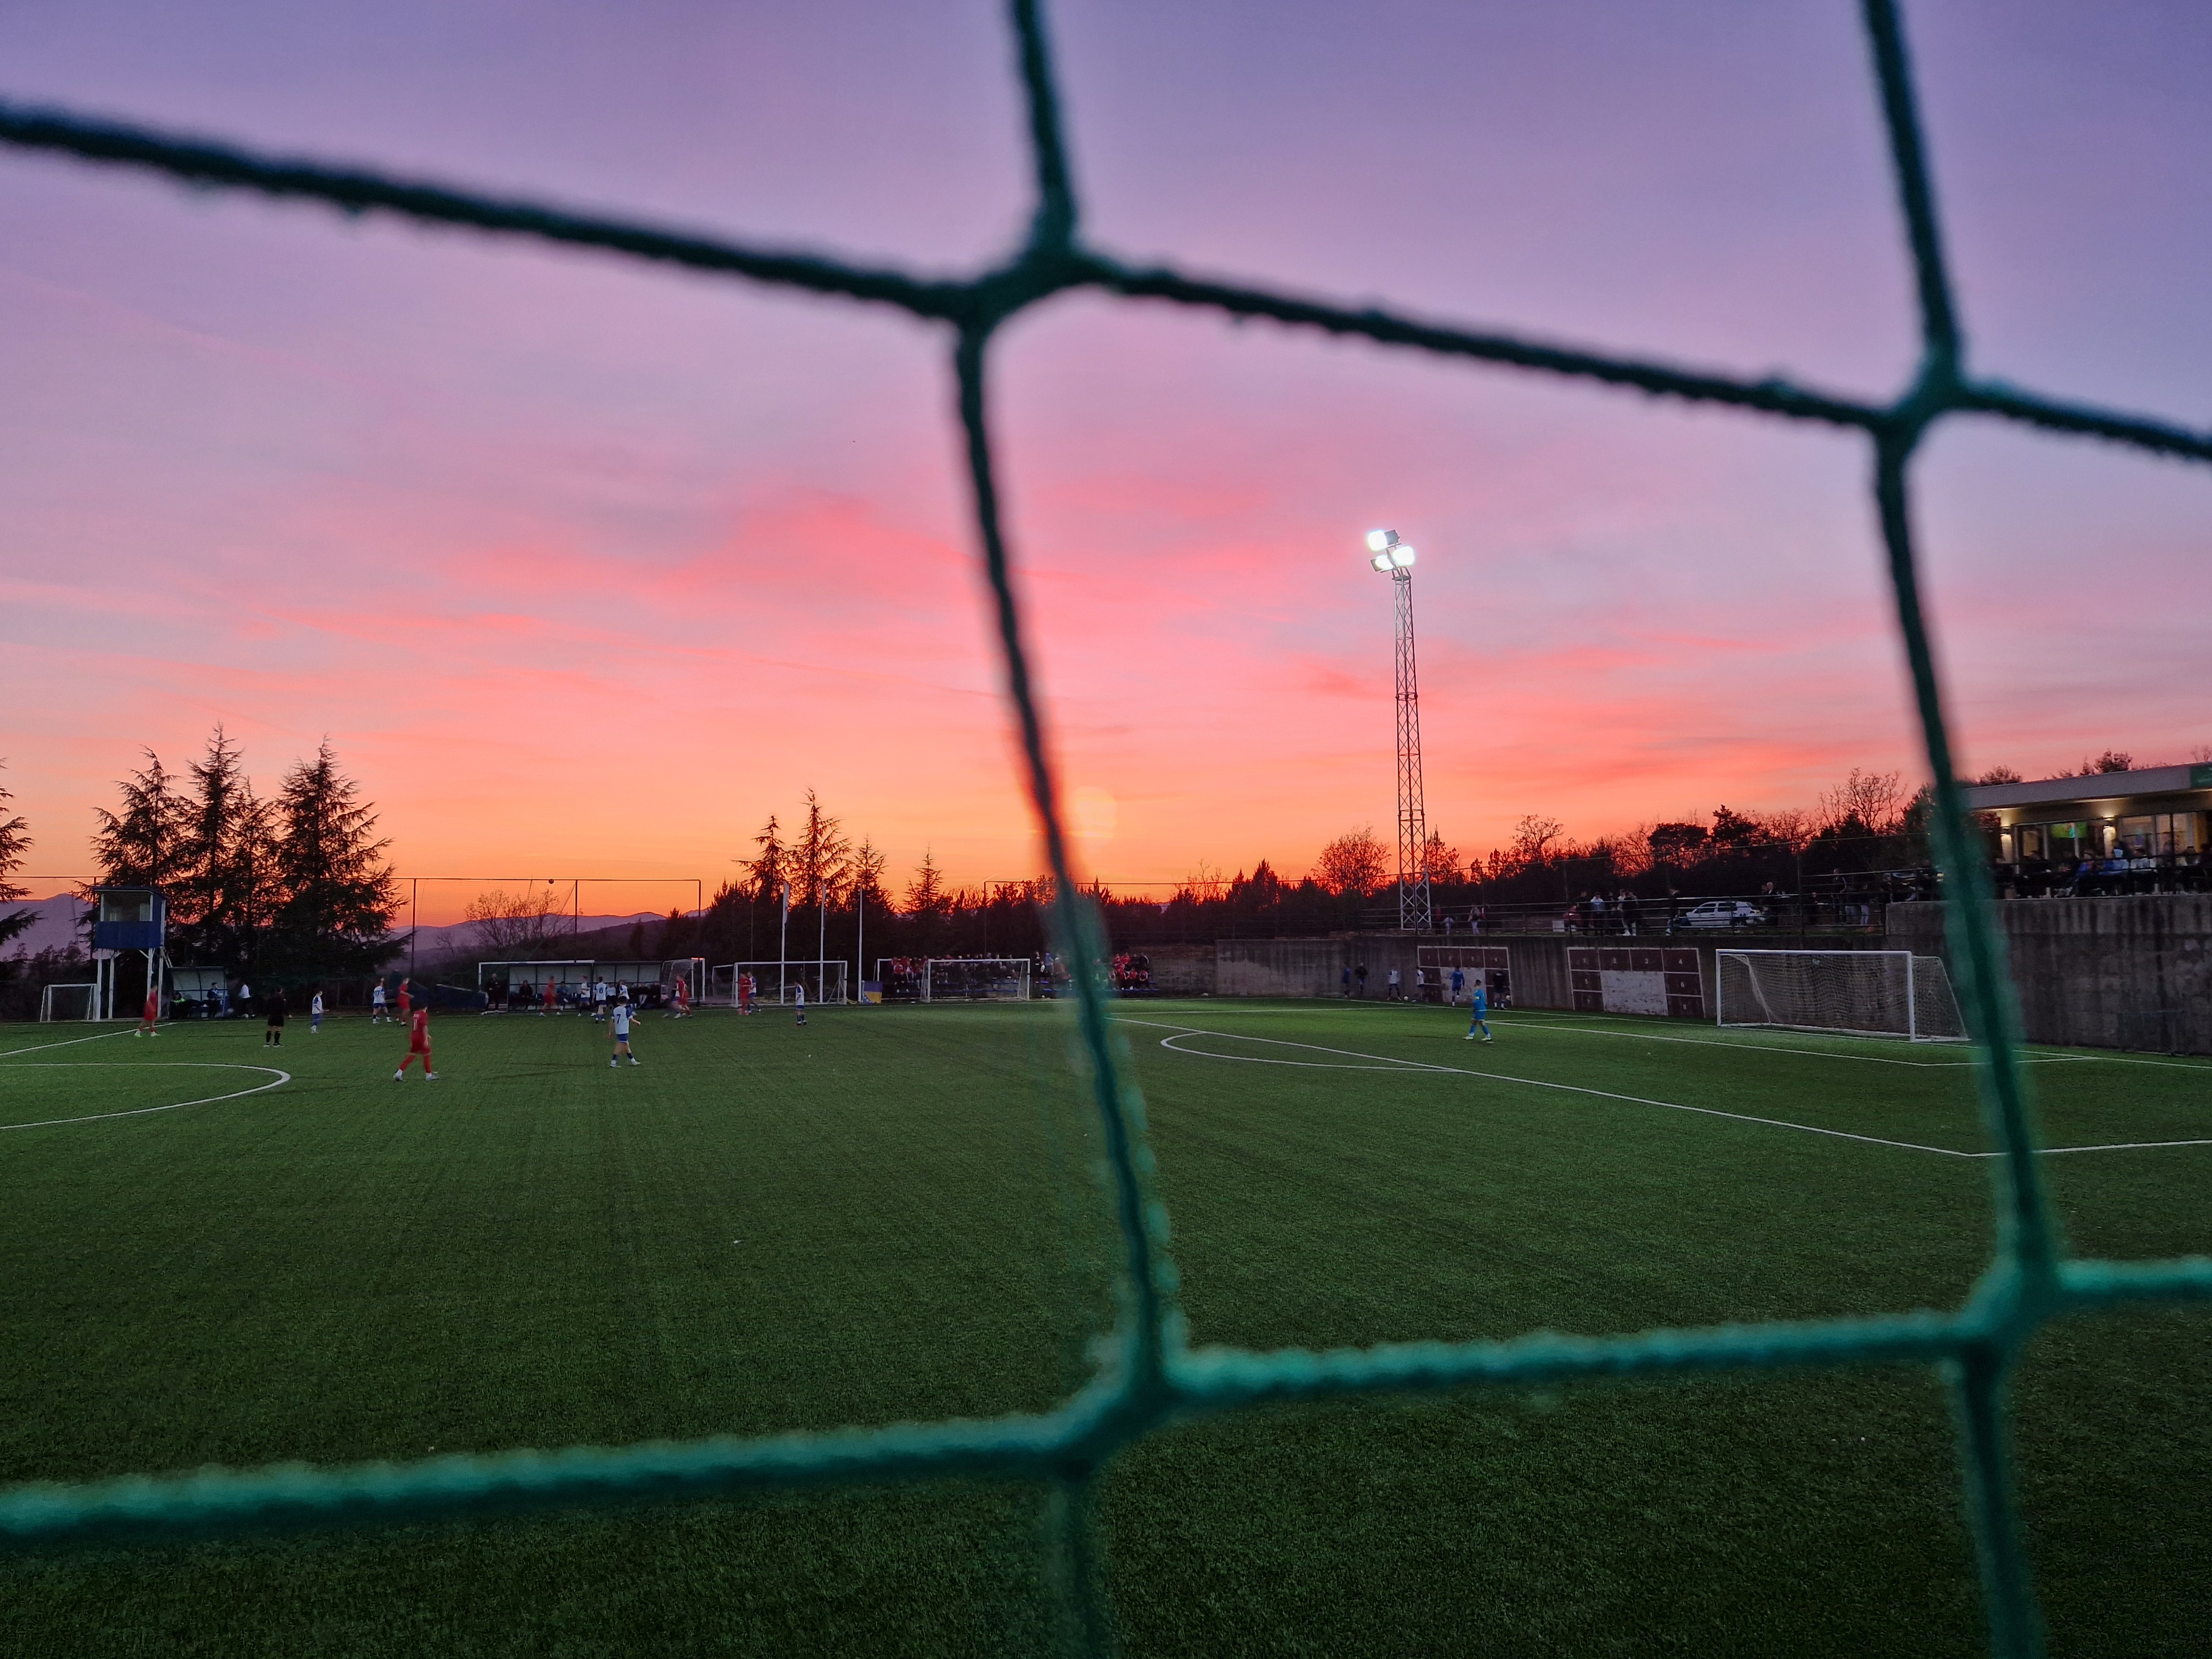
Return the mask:
<path fill-rule="evenodd" d="M 1714 951 L 1714 1022 L 1964 1042 L 1942 958 L 1911 951 Z"/>

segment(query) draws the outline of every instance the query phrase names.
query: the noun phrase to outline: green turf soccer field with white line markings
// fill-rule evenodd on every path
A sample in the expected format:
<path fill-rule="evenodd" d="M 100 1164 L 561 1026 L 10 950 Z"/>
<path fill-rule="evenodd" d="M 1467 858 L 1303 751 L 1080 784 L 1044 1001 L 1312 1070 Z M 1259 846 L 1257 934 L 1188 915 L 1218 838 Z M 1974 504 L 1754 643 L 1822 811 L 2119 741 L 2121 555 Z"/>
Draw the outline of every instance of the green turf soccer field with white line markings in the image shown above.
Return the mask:
<path fill-rule="evenodd" d="M 1115 1009 L 1194 1343 L 1955 1305 L 1969 1053 L 1378 1004 Z M 1115 1237 L 1055 1006 L 0 1029 L 0 1478 L 1037 1409 Z M 2039 1051 L 2068 1237 L 2212 1250 L 2212 1064 Z M 179 1104 L 199 1102 L 199 1104 Z M 58 1121 L 60 1119 L 60 1121 Z M 2203 1650 L 2212 1318 L 2037 1338 L 2055 1652 Z M 936 1484 L 0 1557 L 20 1655 L 1026 1652 L 1042 1498 Z M 1272 1407 L 1106 1478 L 1130 1655 L 1980 1652 L 1922 1367 Z"/>

